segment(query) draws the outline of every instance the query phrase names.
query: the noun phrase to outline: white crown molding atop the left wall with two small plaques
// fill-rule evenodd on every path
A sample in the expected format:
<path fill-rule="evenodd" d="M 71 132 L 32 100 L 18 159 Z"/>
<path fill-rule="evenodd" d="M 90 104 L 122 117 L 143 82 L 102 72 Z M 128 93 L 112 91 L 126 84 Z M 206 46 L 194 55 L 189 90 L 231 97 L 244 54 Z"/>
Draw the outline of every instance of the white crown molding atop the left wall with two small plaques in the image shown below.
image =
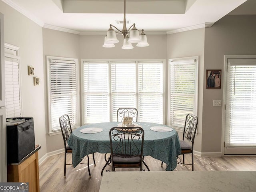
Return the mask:
<path fill-rule="evenodd" d="M 16 3 L 14 3 L 12 0 L 2 0 L 2 2 L 6 3 L 10 7 L 14 8 L 18 12 L 20 12 L 21 14 L 23 14 L 24 16 L 29 18 L 30 20 L 34 21 L 39 26 L 41 26 L 41 27 L 44 26 L 44 22 L 42 20 L 38 19 L 36 16 L 34 16 L 30 12 L 26 11 L 24 8 L 22 8 L 21 6 L 19 6 Z"/>

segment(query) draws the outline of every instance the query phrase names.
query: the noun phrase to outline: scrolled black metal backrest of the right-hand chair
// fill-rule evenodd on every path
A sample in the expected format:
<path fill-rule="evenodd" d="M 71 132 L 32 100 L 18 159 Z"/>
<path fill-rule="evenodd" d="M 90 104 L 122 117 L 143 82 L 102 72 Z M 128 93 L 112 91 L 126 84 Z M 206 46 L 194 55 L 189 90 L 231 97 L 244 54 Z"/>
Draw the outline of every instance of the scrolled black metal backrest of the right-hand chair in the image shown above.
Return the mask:
<path fill-rule="evenodd" d="M 187 114 L 184 131 L 183 131 L 183 140 L 186 138 L 187 141 L 194 143 L 196 129 L 197 129 L 198 118 L 195 115 Z"/>

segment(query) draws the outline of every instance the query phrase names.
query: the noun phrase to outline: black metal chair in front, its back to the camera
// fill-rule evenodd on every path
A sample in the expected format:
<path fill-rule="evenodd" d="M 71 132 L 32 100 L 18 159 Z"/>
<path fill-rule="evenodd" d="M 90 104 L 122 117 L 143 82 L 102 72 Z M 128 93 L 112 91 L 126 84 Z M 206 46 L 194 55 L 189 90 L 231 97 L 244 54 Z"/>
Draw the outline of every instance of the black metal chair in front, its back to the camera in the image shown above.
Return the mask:
<path fill-rule="evenodd" d="M 141 127 L 113 127 L 109 131 L 109 138 L 111 155 L 108 162 L 111 160 L 111 170 L 115 171 L 115 168 L 140 168 L 142 171 L 144 130 Z"/>

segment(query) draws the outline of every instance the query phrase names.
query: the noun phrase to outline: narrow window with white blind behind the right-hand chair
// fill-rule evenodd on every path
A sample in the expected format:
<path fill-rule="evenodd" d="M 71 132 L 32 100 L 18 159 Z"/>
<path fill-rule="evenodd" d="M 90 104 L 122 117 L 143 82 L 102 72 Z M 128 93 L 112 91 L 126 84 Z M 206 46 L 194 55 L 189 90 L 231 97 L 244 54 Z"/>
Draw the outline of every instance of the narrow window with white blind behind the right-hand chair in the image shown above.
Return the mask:
<path fill-rule="evenodd" d="M 198 57 L 169 60 L 170 126 L 184 128 L 186 114 L 197 115 Z"/>

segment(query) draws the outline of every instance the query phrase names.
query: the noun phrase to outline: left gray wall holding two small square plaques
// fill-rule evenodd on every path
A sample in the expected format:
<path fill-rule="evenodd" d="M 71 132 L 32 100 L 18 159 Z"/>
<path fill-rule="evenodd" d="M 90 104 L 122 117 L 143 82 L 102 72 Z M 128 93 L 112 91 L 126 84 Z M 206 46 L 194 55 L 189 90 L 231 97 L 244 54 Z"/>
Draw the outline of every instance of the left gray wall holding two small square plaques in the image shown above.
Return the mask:
<path fill-rule="evenodd" d="M 46 154 L 42 27 L 2 1 L 0 12 L 4 14 L 4 42 L 20 48 L 23 116 L 34 118 L 35 139 L 41 146 L 38 152 L 41 158 Z M 28 66 L 34 66 L 34 76 L 28 76 Z M 38 86 L 34 86 L 36 76 L 40 78 Z"/>

